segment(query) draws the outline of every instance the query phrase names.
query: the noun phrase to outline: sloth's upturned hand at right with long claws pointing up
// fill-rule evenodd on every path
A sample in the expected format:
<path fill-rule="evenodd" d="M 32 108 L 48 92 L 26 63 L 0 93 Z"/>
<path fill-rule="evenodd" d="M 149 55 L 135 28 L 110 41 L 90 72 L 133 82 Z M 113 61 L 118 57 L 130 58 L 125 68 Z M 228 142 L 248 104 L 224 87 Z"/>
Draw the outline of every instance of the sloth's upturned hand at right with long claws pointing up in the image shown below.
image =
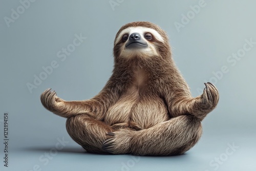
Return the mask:
<path fill-rule="evenodd" d="M 205 88 L 203 94 L 199 98 L 200 106 L 206 112 L 213 110 L 219 101 L 219 92 L 214 84 L 207 82 L 204 83 Z"/>

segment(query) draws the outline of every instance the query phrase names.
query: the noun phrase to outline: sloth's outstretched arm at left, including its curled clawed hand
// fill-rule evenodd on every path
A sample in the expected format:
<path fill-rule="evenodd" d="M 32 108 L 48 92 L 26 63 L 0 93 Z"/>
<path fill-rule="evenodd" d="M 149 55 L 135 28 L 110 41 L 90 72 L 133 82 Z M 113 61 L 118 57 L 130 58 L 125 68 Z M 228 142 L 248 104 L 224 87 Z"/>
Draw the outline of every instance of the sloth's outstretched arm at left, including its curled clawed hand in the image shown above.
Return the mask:
<path fill-rule="evenodd" d="M 56 92 L 51 89 L 47 89 L 40 96 L 42 105 L 56 115 L 68 118 L 77 114 L 87 114 L 95 119 L 103 119 L 106 110 L 118 98 L 117 89 L 109 87 L 108 84 L 98 95 L 89 100 L 65 101 L 57 97 Z"/>

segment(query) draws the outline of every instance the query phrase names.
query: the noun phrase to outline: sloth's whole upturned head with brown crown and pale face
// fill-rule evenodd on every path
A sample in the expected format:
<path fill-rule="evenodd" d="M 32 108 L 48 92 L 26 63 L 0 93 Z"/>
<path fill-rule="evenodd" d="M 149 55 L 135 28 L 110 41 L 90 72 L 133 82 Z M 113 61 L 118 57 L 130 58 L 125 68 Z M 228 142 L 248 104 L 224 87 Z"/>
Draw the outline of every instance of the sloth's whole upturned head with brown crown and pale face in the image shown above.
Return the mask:
<path fill-rule="evenodd" d="M 170 58 L 168 37 L 159 26 L 150 22 L 128 23 L 116 34 L 114 57 L 115 60 Z"/>

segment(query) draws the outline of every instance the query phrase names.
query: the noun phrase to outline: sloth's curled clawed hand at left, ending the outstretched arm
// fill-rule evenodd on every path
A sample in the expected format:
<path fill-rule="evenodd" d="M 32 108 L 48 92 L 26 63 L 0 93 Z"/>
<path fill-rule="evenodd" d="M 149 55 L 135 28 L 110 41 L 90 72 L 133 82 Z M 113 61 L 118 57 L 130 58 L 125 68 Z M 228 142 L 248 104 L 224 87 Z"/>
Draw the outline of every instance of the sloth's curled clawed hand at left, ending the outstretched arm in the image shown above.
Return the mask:
<path fill-rule="evenodd" d="M 44 105 L 46 109 L 51 112 L 57 112 L 61 104 L 64 100 L 56 96 L 55 91 L 51 91 L 51 89 L 45 90 L 41 96 L 41 103 Z"/>

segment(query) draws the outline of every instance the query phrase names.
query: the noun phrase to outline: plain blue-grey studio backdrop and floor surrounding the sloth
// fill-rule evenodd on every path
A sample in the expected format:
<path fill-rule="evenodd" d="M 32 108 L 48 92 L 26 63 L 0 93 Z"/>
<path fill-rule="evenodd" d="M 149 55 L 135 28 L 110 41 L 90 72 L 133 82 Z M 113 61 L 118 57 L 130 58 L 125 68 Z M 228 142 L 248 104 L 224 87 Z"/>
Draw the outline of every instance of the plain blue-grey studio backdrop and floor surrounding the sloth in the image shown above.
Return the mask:
<path fill-rule="evenodd" d="M 256 45 L 242 50 L 246 39 L 256 41 L 255 1 L 205 0 L 197 13 L 190 8 L 201 2 L 197 0 L 112 2 L 113 8 L 109 0 L 35 1 L 8 27 L 4 18 L 11 18 L 12 9 L 22 10 L 21 4 L 1 1 L 1 170 L 256 170 Z M 189 22 L 183 20 L 177 29 L 175 22 L 182 24 L 187 14 Z M 96 95 L 113 69 L 116 32 L 138 20 L 153 22 L 168 33 L 173 57 L 194 96 L 201 94 L 203 82 L 214 80 L 220 92 L 218 108 L 203 120 L 201 140 L 185 155 L 88 154 L 69 137 L 66 119 L 45 110 L 39 96 L 47 88 L 65 100 Z M 87 38 L 61 61 L 57 52 L 73 44 L 75 34 Z M 242 52 L 240 60 L 230 61 L 232 53 Z M 34 75 L 53 60 L 58 67 L 31 93 L 27 83 L 33 83 Z M 227 69 L 220 73 L 223 66 Z M 5 112 L 9 112 L 8 168 L 3 166 Z M 62 138 L 67 142 L 56 151 Z"/>

